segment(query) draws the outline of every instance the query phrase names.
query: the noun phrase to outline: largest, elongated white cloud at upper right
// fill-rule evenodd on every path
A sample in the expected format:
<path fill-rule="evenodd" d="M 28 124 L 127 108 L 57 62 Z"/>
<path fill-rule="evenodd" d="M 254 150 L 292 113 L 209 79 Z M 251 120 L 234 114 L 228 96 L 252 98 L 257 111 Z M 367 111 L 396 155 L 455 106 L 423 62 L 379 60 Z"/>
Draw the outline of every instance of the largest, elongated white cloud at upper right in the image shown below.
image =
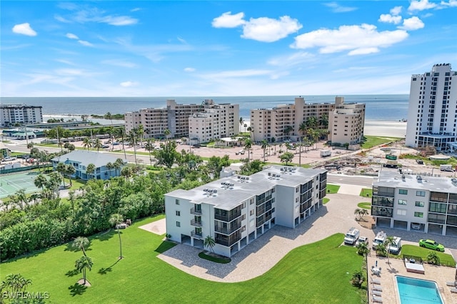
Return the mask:
<path fill-rule="evenodd" d="M 338 29 L 322 28 L 296 36 L 291 48 L 319 48 L 320 53 L 350 51 L 352 55 L 375 53 L 408 37 L 403 30 L 377 31 L 376 26 L 340 26 Z"/>

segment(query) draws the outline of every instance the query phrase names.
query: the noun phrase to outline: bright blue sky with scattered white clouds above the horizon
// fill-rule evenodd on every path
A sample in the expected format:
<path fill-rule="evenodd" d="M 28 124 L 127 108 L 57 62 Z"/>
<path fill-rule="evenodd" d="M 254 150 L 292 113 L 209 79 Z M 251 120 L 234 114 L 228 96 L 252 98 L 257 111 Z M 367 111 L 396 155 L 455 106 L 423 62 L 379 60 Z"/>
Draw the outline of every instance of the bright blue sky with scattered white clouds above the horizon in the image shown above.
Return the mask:
<path fill-rule="evenodd" d="M 407 94 L 457 67 L 457 0 L 0 6 L 2 97 Z"/>

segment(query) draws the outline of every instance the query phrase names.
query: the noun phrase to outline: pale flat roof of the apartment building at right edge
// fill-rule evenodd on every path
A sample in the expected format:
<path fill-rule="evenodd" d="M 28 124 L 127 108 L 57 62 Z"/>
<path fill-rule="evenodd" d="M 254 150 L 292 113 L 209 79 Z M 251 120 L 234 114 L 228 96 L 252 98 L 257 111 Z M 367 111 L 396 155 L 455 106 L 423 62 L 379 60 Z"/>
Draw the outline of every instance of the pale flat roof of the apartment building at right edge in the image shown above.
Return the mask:
<path fill-rule="evenodd" d="M 373 185 L 381 187 L 457 193 L 457 179 L 451 179 L 448 177 L 432 177 L 420 174 L 400 174 L 392 171 L 379 172 L 379 177 L 378 179 L 375 179 Z"/>

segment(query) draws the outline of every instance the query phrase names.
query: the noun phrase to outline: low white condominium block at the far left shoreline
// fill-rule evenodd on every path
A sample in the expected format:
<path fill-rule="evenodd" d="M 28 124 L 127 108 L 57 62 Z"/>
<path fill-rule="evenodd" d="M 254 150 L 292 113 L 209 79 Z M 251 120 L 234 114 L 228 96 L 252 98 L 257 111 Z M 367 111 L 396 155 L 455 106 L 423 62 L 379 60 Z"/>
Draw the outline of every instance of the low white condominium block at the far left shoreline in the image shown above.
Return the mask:
<path fill-rule="evenodd" d="M 0 126 L 9 127 L 16 124 L 43 122 L 42 108 L 41 105 L 0 105 Z"/>

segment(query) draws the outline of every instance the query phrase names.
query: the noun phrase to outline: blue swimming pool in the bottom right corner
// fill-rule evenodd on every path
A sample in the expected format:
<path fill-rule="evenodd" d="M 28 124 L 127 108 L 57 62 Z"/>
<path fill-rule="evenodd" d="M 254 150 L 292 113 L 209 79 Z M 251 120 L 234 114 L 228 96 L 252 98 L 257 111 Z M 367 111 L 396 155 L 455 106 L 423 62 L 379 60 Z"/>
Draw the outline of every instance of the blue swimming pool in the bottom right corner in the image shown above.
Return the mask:
<path fill-rule="evenodd" d="M 396 276 L 401 304 L 443 304 L 434 281 Z"/>

